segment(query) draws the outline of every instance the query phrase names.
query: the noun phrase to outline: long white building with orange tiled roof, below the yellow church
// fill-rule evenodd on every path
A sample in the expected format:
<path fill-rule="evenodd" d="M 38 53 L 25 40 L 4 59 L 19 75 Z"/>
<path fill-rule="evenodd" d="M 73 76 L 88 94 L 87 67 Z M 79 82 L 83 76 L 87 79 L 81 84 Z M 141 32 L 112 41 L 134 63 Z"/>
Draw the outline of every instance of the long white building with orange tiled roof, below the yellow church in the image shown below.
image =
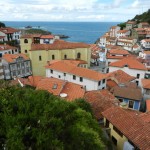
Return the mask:
<path fill-rule="evenodd" d="M 104 74 L 77 67 L 65 60 L 51 61 L 46 66 L 46 77 L 55 77 L 82 85 L 87 91 L 106 88 Z"/>

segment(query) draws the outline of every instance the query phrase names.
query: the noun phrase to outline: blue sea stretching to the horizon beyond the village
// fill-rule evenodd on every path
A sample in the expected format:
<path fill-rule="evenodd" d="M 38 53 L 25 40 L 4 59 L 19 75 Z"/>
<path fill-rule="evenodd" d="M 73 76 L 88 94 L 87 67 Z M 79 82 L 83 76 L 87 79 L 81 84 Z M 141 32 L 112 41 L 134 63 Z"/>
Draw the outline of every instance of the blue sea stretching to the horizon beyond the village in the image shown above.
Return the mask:
<path fill-rule="evenodd" d="M 38 27 L 53 34 L 64 34 L 72 42 L 94 43 L 100 36 L 118 22 L 4 22 L 6 26 L 23 28 L 26 26 Z"/>

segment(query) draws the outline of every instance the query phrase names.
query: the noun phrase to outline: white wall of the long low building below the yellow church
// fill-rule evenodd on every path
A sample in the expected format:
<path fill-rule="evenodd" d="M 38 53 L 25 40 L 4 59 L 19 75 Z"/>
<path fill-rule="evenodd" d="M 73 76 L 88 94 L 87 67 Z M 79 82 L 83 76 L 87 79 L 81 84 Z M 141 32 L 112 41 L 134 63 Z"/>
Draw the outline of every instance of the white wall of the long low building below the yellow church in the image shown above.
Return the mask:
<path fill-rule="evenodd" d="M 105 81 L 105 83 L 102 83 L 102 81 L 101 81 L 100 86 L 98 86 L 98 81 L 83 78 L 83 82 L 80 82 L 80 77 L 77 76 L 77 75 L 76 75 L 76 80 L 73 80 L 73 75 L 72 74 L 66 73 L 66 76 L 64 76 L 63 72 L 59 72 L 59 71 L 56 71 L 56 70 L 53 70 L 53 74 L 52 74 L 50 72 L 50 70 L 51 69 L 46 69 L 46 77 L 55 77 L 55 78 L 60 77 L 59 79 L 67 80 L 69 82 L 76 83 L 76 84 L 82 85 L 84 87 L 86 86 L 87 91 L 99 90 L 99 89 L 102 89 L 102 88 L 106 88 L 106 81 Z"/>

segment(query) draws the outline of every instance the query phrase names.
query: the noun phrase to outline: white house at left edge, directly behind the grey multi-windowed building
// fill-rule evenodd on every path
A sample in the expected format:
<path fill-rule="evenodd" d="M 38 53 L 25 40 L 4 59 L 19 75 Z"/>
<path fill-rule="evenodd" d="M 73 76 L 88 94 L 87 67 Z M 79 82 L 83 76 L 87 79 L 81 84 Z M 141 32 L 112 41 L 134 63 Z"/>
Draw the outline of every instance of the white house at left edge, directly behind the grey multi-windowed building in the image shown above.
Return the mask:
<path fill-rule="evenodd" d="M 6 45 L 6 44 L 1 44 L 0 45 L 0 57 L 2 57 L 4 54 L 18 54 L 19 53 L 19 48 Z"/>

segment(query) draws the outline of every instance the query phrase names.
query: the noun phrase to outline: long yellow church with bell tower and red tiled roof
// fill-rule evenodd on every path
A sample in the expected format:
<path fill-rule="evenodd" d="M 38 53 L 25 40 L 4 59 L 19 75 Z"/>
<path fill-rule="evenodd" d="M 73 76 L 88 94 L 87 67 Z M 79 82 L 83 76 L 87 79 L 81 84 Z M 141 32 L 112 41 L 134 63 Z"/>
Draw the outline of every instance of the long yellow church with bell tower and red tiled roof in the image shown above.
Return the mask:
<path fill-rule="evenodd" d="M 20 40 L 21 53 L 26 53 L 32 62 L 33 75 L 45 76 L 45 66 L 51 60 L 77 59 L 87 61 L 90 66 L 90 46 L 55 40 L 52 44 L 37 44 L 40 35 L 25 35 Z"/>

